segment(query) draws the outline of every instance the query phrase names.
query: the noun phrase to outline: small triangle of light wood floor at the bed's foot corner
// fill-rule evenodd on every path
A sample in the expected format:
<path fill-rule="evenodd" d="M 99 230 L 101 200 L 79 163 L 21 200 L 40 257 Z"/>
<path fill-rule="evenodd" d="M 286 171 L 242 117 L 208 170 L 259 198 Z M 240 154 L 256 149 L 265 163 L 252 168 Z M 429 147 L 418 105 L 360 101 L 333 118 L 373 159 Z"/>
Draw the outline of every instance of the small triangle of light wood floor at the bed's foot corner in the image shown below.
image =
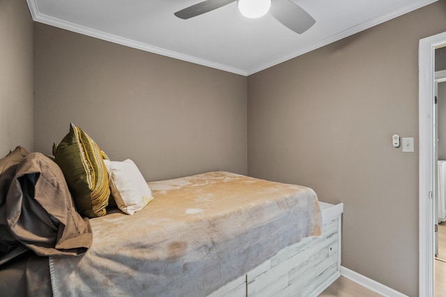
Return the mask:
<path fill-rule="evenodd" d="M 446 264 L 446 263 L 445 263 Z M 319 297 L 380 297 L 374 291 L 370 291 L 359 284 L 352 282 L 344 277 L 338 278 L 330 287 L 325 289 Z"/>

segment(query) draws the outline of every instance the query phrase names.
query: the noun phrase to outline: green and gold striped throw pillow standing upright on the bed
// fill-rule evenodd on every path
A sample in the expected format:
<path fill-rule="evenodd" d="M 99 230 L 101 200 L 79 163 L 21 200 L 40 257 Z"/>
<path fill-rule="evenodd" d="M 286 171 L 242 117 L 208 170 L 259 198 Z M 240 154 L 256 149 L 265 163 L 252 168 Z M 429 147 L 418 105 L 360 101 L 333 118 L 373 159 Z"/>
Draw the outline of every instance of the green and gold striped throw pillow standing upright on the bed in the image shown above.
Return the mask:
<path fill-rule="evenodd" d="M 82 129 L 70 124 L 59 145 L 53 145 L 56 163 L 62 169 L 77 211 L 93 218 L 105 216 L 109 202 L 109 177 L 103 161 L 105 154 Z"/>

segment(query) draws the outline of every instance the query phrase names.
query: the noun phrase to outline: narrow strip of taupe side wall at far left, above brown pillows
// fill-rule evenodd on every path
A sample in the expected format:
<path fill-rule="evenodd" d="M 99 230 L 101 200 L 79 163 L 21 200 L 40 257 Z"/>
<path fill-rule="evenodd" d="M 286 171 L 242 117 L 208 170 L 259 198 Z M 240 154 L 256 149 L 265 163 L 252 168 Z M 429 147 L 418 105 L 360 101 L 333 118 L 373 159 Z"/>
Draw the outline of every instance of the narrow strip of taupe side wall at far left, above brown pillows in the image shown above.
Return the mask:
<path fill-rule="evenodd" d="M 0 0 L 0 158 L 33 150 L 33 22 L 26 1 Z"/>

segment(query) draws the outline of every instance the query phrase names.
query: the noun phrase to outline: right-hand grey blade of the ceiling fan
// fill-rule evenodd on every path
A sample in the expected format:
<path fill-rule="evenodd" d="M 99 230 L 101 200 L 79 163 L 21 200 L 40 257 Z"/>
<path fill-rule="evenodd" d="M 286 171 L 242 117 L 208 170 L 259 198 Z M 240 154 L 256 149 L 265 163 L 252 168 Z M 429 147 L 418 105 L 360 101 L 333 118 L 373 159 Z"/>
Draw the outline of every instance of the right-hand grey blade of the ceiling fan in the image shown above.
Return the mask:
<path fill-rule="evenodd" d="M 284 26 L 298 34 L 304 33 L 316 23 L 316 19 L 290 0 L 272 0 L 270 13 Z"/>

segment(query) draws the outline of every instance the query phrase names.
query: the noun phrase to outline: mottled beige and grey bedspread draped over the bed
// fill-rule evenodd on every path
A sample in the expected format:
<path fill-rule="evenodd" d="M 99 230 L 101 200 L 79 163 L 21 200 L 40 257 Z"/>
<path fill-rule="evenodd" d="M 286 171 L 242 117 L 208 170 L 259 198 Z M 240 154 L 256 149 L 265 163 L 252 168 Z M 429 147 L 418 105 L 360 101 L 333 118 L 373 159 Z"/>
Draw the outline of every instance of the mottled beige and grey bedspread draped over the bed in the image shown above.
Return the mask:
<path fill-rule="evenodd" d="M 229 172 L 149 183 L 133 216 L 90 220 L 82 257 L 51 257 L 54 296 L 206 296 L 321 232 L 314 191 Z"/>

